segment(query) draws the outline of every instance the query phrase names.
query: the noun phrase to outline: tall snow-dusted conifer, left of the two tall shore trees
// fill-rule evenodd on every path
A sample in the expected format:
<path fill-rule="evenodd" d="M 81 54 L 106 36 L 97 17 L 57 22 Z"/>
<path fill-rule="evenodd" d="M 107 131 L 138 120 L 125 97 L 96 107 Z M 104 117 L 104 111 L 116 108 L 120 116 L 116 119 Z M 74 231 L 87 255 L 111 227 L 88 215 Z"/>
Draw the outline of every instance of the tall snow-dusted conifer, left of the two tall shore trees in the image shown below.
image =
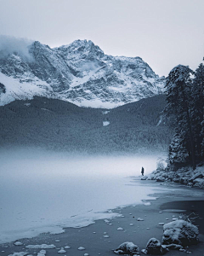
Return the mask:
<path fill-rule="evenodd" d="M 195 142 L 190 116 L 192 74 L 193 71 L 190 67 L 183 65 L 174 67 L 168 74 L 166 84 L 167 106 L 165 112 L 174 115 L 175 130 L 177 132 L 169 148 L 169 157 L 174 155 L 174 159 L 181 159 L 182 151 L 184 152 L 185 148 L 188 154 L 184 154 L 184 157 L 186 157 L 186 160 L 191 160 L 193 169 L 195 169 Z M 179 137 L 179 139 L 176 139 L 176 137 Z M 177 147 L 177 150 L 175 150 L 175 147 Z M 172 148 L 174 148 L 174 152 L 171 152 Z M 179 148 L 182 148 L 182 150 L 179 150 Z"/>

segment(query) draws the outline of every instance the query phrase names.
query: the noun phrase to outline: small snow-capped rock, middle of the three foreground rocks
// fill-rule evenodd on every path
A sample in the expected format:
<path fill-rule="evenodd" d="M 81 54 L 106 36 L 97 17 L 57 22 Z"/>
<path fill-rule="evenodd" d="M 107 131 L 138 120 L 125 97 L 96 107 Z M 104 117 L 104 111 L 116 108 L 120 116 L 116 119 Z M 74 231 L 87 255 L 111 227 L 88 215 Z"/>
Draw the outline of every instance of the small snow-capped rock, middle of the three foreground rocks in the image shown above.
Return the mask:
<path fill-rule="evenodd" d="M 161 241 L 158 239 L 150 238 L 147 242 L 145 252 L 152 255 L 163 255 L 164 253 L 167 253 L 167 249 L 161 246 Z"/>

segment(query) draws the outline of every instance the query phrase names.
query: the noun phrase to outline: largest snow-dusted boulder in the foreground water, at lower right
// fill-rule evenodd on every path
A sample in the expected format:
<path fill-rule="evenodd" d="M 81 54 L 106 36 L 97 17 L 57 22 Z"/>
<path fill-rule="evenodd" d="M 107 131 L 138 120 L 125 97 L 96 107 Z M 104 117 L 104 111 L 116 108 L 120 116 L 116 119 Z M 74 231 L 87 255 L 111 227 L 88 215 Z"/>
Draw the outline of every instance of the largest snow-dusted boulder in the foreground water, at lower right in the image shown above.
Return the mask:
<path fill-rule="evenodd" d="M 198 242 L 198 228 L 183 219 L 178 219 L 163 226 L 162 244 L 189 246 Z"/>

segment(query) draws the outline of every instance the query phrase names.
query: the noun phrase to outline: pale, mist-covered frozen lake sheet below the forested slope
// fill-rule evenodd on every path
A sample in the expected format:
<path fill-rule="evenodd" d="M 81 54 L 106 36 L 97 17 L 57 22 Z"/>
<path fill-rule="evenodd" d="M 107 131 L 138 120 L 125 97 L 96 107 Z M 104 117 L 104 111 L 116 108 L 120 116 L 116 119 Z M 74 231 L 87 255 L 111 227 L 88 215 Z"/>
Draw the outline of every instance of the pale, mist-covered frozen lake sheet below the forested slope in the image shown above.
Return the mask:
<path fill-rule="evenodd" d="M 156 159 L 3 151 L 0 242 L 88 225 L 116 216 L 108 209 L 150 199 L 153 188 L 133 185 L 129 176 L 139 176 L 141 166 L 150 173 Z"/>

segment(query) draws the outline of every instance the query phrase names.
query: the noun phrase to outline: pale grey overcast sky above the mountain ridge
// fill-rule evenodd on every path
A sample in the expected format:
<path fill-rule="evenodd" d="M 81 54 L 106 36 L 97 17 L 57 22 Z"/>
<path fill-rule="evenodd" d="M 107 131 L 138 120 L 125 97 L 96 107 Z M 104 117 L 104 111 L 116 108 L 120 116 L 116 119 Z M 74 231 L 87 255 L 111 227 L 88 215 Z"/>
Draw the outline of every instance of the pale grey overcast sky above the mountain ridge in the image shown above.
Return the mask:
<path fill-rule="evenodd" d="M 0 0 L 0 34 L 50 47 L 92 40 L 167 75 L 204 55 L 204 0 Z"/>

